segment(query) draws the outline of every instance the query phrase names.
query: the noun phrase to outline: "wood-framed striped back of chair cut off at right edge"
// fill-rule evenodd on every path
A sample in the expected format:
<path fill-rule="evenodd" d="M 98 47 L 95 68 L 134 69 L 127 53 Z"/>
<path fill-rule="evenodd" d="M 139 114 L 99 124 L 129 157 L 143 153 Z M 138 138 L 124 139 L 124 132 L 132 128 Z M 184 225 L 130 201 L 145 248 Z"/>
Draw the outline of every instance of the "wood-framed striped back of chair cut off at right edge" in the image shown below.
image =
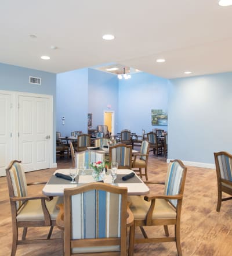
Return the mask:
<path fill-rule="evenodd" d="M 228 154 L 227 152 L 215 153 L 215 162 L 219 179 L 232 182 L 232 155 Z"/>

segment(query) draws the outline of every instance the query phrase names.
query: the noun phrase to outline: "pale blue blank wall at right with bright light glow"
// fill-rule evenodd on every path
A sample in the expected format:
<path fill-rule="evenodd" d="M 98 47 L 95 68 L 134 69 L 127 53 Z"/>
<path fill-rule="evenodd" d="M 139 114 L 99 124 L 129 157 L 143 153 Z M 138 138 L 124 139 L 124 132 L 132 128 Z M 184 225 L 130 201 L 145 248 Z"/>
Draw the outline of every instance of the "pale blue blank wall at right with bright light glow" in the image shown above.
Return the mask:
<path fill-rule="evenodd" d="M 168 158 L 214 163 L 232 153 L 232 73 L 173 79 L 168 112 Z"/>

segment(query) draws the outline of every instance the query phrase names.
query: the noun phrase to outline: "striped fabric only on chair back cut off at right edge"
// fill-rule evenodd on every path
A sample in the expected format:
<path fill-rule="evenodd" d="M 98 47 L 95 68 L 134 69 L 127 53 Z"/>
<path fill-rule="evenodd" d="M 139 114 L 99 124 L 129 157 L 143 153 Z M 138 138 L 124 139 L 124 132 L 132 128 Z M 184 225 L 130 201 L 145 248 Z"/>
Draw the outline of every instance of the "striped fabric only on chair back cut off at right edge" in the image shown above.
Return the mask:
<path fill-rule="evenodd" d="M 218 155 L 218 163 L 221 178 L 232 182 L 232 159 L 227 155 Z"/>

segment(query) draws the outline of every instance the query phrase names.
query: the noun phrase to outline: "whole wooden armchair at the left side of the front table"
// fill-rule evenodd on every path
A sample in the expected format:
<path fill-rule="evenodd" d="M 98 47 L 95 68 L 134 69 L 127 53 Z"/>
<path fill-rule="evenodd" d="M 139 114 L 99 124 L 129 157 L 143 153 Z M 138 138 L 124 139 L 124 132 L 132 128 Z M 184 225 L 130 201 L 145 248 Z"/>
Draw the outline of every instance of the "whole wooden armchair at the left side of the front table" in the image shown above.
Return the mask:
<path fill-rule="evenodd" d="M 63 197 L 46 197 L 39 194 L 30 197 L 27 193 L 27 186 L 46 184 L 46 182 L 33 182 L 27 184 L 26 176 L 21 161 L 14 160 L 6 168 L 6 179 L 8 182 L 10 208 L 12 215 L 12 251 L 11 256 L 16 254 L 18 244 L 41 243 L 48 241 L 60 241 L 50 239 L 53 226 L 56 225 L 58 211 L 56 204 L 63 202 Z M 28 227 L 48 226 L 50 231 L 47 239 L 26 239 Z M 19 240 L 19 227 L 23 227 L 23 234 Z"/>

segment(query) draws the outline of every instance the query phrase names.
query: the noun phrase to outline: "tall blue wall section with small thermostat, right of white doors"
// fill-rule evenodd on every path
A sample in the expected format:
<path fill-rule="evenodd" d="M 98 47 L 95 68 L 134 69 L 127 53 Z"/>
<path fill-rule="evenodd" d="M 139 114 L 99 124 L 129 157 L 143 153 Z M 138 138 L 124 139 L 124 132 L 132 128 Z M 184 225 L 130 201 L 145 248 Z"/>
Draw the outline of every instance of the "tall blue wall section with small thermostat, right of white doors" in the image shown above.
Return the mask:
<path fill-rule="evenodd" d="M 87 68 L 57 74 L 56 113 L 56 127 L 61 136 L 71 136 L 71 131 L 88 132 Z"/>

